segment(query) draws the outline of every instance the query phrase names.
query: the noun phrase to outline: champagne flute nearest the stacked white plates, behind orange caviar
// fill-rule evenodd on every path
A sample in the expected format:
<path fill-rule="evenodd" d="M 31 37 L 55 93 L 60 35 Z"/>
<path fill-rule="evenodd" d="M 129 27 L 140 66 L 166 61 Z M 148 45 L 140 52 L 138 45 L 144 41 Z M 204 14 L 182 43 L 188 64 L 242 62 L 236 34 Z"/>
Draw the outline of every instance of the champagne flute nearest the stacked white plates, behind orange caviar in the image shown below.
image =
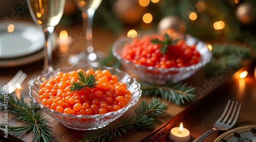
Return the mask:
<path fill-rule="evenodd" d="M 53 70 L 52 65 L 52 34 L 59 23 L 66 0 L 27 0 L 33 21 L 42 27 L 45 33 L 44 69 L 42 73 Z"/>

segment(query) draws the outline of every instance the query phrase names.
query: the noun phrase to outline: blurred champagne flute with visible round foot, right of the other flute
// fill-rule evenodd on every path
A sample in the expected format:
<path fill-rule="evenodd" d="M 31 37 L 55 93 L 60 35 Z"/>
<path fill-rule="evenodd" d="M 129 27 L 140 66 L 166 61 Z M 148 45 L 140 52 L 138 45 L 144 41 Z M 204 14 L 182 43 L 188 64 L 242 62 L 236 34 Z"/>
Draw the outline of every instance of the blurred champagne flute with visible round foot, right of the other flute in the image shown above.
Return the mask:
<path fill-rule="evenodd" d="M 86 31 L 86 48 L 78 54 L 71 55 L 68 62 L 71 65 L 95 64 L 103 58 L 104 54 L 100 51 L 94 51 L 93 48 L 93 17 L 102 0 L 74 0 L 76 6 L 82 13 L 83 31 Z"/>

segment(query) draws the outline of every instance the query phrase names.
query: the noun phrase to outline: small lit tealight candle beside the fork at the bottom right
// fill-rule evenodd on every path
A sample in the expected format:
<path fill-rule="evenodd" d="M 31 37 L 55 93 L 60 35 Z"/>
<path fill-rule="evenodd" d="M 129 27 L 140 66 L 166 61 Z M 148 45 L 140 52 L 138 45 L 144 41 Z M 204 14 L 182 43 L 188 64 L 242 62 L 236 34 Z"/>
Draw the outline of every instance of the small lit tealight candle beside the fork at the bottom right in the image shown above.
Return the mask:
<path fill-rule="evenodd" d="M 183 128 L 181 122 L 180 127 L 170 130 L 169 138 L 175 142 L 187 142 L 190 140 L 190 132 L 186 128 Z"/>

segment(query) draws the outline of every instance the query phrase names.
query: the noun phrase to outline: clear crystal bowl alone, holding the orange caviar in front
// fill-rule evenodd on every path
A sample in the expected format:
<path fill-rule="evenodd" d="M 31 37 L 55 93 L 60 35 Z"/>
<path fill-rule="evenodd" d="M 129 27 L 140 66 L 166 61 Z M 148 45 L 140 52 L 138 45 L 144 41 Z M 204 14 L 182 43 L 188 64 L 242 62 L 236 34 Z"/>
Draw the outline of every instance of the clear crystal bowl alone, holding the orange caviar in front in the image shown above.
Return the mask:
<path fill-rule="evenodd" d="M 78 69 L 78 68 L 77 68 Z M 67 113 L 61 113 L 57 112 L 53 109 L 50 109 L 46 106 L 44 106 L 39 99 L 38 91 L 39 91 L 39 85 L 41 82 L 43 82 L 46 79 L 49 79 L 51 76 L 56 76 L 58 71 L 61 71 L 63 73 L 77 70 L 74 67 L 69 68 L 63 68 L 54 70 L 52 72 L 49 72 L 47 74 L 43 74 L 38 76 L 37 80 L 33 82 L 33 84 L 29 87 L 30 89 L 30 98 L 36 103 L 42 110 L 44 110 L 49 116 L 63 124 L 64 126 L 76 129 L 76 130 L 95 130 L 98 128 L 102 128 L 109 123 L 113 122 L 117 118 L 123 115 L 124 112 L 126 112 L 129 108 L 131 108 L 133 105 L 135 105 L 139 98 L 141 97 L 141 90 L 140 90 L 140 84 L 135 80 L 134 77 L 131 77 L 126 72 L 118 70 L 116 68 L 112 67 L 105 67 L 105 66 L 98 66 L 98 67 L 92 67 L 87 66 L 82 68 L 83 70 L 93 69 L 93 70 L 104 70 L 108 69 L 113 75 L 117 75 L 118 80 L 122 81 L 123 83 L 127 84 L 127 90 L 131 92 L 131 99 L 129 102 L 118 111 L 112 111 L 105 114 L 99 114 L 99 115 L 70 115 Z"/>

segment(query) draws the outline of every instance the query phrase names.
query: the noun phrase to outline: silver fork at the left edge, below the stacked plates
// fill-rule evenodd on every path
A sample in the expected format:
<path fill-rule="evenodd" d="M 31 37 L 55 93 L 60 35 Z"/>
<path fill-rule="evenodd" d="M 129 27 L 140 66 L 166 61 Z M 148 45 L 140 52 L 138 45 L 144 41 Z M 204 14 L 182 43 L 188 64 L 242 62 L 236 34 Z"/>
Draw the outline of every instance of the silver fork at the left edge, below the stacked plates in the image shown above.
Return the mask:
<path fill-rule="evenodd" d="M 11 94 L 16 90 L 16 85 L 21 84 L 24 79 L 27 77 L 27 74 L 23 71 L 18 71 L 17 74 L 2 88 L 0 88 L 1 94 Z"/>

